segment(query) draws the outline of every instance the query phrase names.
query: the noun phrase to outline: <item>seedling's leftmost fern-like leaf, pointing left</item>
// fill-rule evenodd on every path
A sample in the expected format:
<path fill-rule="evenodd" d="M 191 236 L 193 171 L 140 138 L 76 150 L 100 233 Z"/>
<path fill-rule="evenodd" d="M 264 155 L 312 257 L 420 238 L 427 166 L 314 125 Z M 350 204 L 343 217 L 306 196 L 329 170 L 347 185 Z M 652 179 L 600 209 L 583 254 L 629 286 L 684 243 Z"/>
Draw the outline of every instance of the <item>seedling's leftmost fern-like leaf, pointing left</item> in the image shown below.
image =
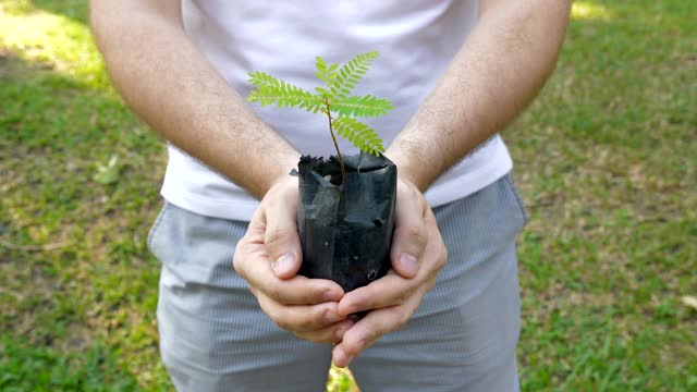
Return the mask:
<path fill-rule="evenodd" d="M 262 107 L 276 102 L 279 108 L 295 107 L 317 112 L 322 105 L 321 100 L 311 93 L 265 72 L 250 73 L 249 83 L 257 89 L 249 93 L 247 101 L 259 102 Z"/>

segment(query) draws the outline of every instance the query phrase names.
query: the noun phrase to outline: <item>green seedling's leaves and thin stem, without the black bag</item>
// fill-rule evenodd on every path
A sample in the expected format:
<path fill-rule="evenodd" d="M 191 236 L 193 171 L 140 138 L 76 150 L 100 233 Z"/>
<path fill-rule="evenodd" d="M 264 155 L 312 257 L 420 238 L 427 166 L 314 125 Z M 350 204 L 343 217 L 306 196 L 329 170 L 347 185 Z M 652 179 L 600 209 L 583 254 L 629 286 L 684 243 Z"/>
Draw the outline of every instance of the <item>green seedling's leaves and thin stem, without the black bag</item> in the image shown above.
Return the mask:
<path fill-rule="evenodd" d="M 356 119 L 380 117 L 392 109 L 392 102 L 371 95 L 352 95 L 356 84 L 368 72 L 370 64 L 377 57 L 378 52 L 371 51 L 358 54 L 345 64 L 328 64 L 318 56 L 315 75 L 325 82 L 325 85 L 315 87 L 315 93 L 261 71 L 252 72 L 249 73 L 249 83 L 257 88 L 249 93 L 247 101 L 259 102 L 262 107 L 276 102 L 279 108 L 293 107 L 325 114 L 329 122 L 331 139 L 337 149 L 343 182 L 346 169 L 334 131 L 366 154 L 379 157 L 384 152 L 382 139 L 375 130 Z"/>

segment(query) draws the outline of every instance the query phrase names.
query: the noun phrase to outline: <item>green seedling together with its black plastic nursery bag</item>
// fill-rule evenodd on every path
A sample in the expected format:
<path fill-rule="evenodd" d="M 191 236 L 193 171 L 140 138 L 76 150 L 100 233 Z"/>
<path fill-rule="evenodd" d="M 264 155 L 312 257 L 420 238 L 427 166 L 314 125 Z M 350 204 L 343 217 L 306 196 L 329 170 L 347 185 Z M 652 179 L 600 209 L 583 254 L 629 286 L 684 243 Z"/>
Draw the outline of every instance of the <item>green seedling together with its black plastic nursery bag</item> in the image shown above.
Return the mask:
<path fill-rule="evenodd" d="M 391 267 L 396 167 L 382 155 L 382 139 L 358 119 L 382 115 L 392 103 L 371 95 L 352 95 L 377 57 L 377 52 L 358 54 L 345 64 L 328 64 L 317 57 L 315 75 L 323 84 L 314 90 L 265 72 L 249 74 L 256 89 L 248 101 L 327 117 L 337 159 L 303 156 L 292 172 L 298 177 L 297 229 L 303 246 L 298 273 L 331 279 L 345 292 L 384 277 Z M 362 154 L 342 157 L 335 133 Z"/>

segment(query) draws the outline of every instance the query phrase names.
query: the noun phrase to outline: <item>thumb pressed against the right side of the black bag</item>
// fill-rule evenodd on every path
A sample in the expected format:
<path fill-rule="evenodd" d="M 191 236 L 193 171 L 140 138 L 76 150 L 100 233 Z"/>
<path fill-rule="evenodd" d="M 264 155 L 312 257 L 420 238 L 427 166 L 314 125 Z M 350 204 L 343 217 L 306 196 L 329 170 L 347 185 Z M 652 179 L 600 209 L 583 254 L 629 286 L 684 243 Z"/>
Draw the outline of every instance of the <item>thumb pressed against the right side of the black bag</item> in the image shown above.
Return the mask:
<path fill-rule="evenodd" d="M 404 278 L 418 273 L 419 261 L 428 242 L 424 222 L 426 200 L 424 196 L 404 182 L 396 195 L 395 228 L 392 236 L 390 258 L 394 270 Z"/>

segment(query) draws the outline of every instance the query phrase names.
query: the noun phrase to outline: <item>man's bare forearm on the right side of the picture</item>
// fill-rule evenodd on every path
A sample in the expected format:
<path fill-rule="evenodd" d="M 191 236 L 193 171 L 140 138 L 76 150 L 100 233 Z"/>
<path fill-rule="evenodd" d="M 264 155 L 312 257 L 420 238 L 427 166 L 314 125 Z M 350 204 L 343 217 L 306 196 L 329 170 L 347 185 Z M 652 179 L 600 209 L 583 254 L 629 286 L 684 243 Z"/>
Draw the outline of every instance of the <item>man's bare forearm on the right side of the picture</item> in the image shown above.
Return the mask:
<path fill-rule="evenodd" d="M 421 191 L 511 122 L 557 62 L 570 1 L 481 3 L 468 39 L 387 151 Z"/>

